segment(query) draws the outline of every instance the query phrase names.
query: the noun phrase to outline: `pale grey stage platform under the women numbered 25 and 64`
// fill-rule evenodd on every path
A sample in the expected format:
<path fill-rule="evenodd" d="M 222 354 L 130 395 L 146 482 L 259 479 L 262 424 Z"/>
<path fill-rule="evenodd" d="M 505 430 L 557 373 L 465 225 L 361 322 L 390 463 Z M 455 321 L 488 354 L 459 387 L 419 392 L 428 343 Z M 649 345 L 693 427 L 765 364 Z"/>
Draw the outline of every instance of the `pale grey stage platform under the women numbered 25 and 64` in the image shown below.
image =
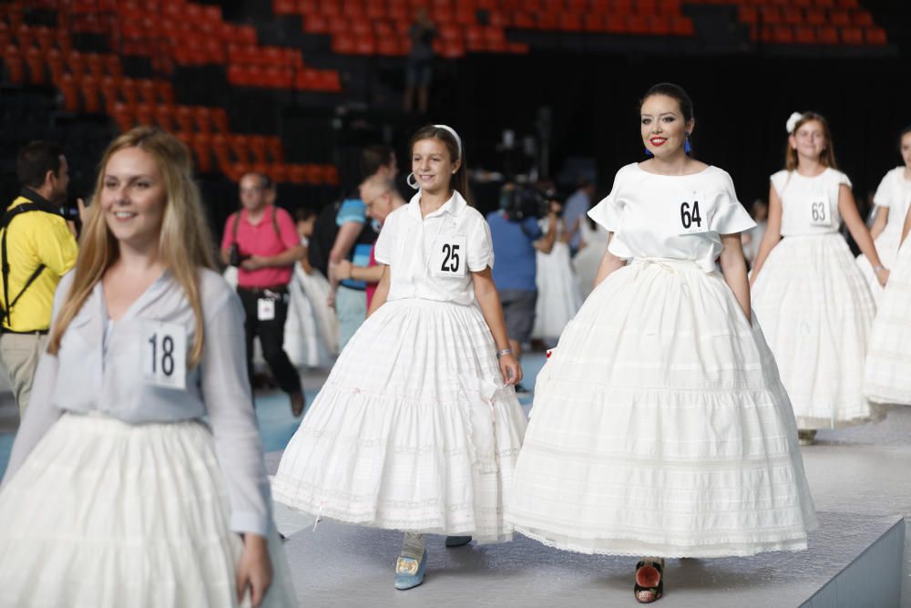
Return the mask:
<path fill-rule="evenodd" d="M 267 462 L 277 467 L 280 454 Z M 715 608 L 911 606 L 911 408 L 821 431 L 804 448 L 820 529 L 809 551 L 671 560 L 657 605 Z M 428 539 L 425 583 L 393 587 L 401 533 L 322 521 L 285 543 L 302 606 L 635 606 L 634 560 L 548 549 L 524 537 L 445 549 Z M 903 590 L 904 587 L 904 590 Z M 903 596 L 904 591 L 904 596 Z M 904 599 L 903 599 L 904 598 Z"/>

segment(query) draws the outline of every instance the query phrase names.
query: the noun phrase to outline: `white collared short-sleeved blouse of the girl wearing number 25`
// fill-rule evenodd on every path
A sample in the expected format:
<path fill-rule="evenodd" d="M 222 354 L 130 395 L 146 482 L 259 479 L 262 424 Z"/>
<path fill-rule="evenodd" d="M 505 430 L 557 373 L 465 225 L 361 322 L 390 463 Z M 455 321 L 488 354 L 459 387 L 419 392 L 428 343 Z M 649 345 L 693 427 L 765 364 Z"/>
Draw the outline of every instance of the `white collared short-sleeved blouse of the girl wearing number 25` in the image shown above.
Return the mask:
<path fill-rule="evenodd" d="M 421 193 L 389 214 L 374 257 L 389 265 L 386 300 L 422 298 L 472 304 L 471 273 L 494 265 L 490 228 L 484 216 L 453 192 L 449 201 L 421 216 Z"/>

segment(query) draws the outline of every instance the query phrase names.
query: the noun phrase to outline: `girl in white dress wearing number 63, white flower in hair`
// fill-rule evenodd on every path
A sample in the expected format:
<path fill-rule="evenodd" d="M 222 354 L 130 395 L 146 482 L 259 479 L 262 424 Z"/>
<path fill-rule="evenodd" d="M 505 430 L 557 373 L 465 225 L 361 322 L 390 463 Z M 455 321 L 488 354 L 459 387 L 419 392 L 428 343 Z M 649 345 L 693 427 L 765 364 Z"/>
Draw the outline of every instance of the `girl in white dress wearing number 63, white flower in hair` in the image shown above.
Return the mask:
<path fill-rule="evenodd" d="M 752 271 L 753 308 L 775 355 L 801 429 L 860 424 L 882 417 L 863 392 L 873 295 L 838 232 L 844 223 L 885 284 L 851 180 L 837 170 L 828 123 L 804 112 L 788 120 L 785 169 L 769 192 L 769 222 Z"/>

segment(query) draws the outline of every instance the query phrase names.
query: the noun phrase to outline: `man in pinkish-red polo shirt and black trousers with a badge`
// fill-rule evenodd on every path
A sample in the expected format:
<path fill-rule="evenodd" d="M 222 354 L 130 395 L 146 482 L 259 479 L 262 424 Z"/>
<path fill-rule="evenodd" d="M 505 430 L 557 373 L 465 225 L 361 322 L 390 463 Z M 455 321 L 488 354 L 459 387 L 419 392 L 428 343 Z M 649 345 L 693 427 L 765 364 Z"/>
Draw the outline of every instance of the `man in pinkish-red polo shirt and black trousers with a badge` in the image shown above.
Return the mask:
<path fill-rule="evenodd" d="M 253 377 L 253 338 L 294 416 L 303 412 L 301 378 L 283 348 L 292 266 L 304 254 L 291 214 L 269 202 L 271 180 L 259 173 L 241 178 L 241 211 L 231 213 L 221 239 L 221 261 L 238 267 L 237 293 L 245 313 L 247 371 Z"/>

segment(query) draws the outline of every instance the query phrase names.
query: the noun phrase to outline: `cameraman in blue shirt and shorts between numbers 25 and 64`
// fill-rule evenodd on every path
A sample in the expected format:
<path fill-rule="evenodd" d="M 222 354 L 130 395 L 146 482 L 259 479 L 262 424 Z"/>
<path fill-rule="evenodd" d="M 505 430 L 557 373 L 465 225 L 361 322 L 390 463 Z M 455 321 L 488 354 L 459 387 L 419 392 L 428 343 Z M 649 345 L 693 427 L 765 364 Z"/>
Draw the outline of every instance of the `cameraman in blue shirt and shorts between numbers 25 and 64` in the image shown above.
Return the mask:
<path fill-rule="evenodd" d="M 500 211 L 487 215 L 494 243 L 494 283 L 506 316 L 509 346 L 518 359 L 531 337 L 537 305 L 537 252 L 549 253 L 557 239 L 560 204 L 549 193 L 508 183 L 500 194 Z M 538 218 L 548 217 L 542 233 Z M 517 385 L 517 392 L 527 392 Z"/>

